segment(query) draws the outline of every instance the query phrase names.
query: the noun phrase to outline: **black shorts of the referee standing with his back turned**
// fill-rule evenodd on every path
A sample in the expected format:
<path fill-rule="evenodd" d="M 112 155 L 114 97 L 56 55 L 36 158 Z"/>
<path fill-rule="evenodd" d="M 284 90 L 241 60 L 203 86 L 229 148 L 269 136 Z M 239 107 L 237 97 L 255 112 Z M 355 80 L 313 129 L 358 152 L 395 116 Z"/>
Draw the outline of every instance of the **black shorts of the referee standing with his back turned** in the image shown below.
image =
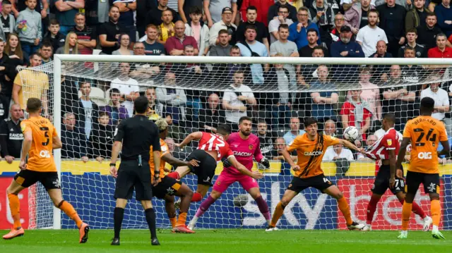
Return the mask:
<path fill-rule="evenodd" d="M 115 199 L 131 199 L 135 189 L 135 199 L 150 200 L 153 198 L 152 185 L 150 183 L 150 168 L 148 161 L 143 161 L 138 166 L 138 161 L 121 161 L 119 165 Z"/>

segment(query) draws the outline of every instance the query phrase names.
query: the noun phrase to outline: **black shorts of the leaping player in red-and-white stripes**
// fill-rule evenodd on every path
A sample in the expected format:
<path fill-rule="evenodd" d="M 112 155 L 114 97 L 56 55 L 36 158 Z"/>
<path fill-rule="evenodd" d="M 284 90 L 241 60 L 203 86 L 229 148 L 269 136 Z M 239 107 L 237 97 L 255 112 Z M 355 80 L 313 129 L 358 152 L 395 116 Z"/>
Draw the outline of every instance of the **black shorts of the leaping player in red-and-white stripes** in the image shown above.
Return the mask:
<path fill-rule="evenodd" d="M 191 173 L 198 176 L 198 185 L 212 186 L 212 179 L 215 175 L 215 168 L 217 168 L 217 161 L 213 159 L 210 154 L 200 149 L 191 152 L 191 154 L 186 157 L 185 161 L 190 161 L 191 159 L 199 161 L 198 167 L 190 166 Z"/>

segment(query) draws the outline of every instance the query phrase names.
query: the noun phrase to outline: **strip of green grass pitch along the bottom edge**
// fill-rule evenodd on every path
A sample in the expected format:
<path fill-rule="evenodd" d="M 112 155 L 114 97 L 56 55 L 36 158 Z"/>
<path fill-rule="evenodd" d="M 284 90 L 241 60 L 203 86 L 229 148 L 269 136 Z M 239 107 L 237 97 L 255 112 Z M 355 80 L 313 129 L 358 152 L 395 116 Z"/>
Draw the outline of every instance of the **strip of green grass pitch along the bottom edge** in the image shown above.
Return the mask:
<path fill-rule="evenodd" d="M 0 230 L 3 235 L 6 230 Z M 121 245 L 110 246 L 113 230 L 90 230 L 86 244 L 78 244 L 78 230 L 27 230 L 25 236 L 1 240 L 0 252 L 90 253 L 90 252 L 321 252 L 321 253 L 438 253 L 452 252 L 452 231 L 446 240 L 436 240 L 429 232 L 410 232 L 407 240 L 397 239 L 397 231 L 338 230 L 197 230 L 196 234 L 172 234 L 159 230 L 160 246 L 150 245 L 148 230 L 122 230 Z"/>

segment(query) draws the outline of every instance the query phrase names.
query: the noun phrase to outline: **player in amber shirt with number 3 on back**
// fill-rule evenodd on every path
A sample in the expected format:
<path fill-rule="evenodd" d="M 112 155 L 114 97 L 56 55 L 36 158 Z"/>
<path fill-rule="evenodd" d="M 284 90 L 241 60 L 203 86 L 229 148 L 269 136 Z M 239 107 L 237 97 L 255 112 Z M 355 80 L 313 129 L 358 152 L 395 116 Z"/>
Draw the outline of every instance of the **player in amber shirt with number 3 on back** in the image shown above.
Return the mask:
<path fill-rule="evenodd" d="M 54 125 L 47 118 L 40 116 L 41 106 L 40 99 L 28 99 L 27 111 L 30 114 L 30 118 L 20 123 L 24 136 L 19 163 L 20 172 L 16 174 L 11 185 L 6 189 L 14 226 L 3 238 L 12 239 L 24 235 L 25 232 L 22 224 L 20 224 L 18 194 L 23 189 L 39 181 L 47 190 L 54 205 L 76 222 L 80 232 L 79 242 L 85 243 L 88 240 L 90 228 L 88 224 L 83 223 L 73 206 L 66 202 L 61 195 L 61 186 L 52 150 L 61 149 L 62 144 Z M 27 156 L 28 162 L 25 161 Z"/>

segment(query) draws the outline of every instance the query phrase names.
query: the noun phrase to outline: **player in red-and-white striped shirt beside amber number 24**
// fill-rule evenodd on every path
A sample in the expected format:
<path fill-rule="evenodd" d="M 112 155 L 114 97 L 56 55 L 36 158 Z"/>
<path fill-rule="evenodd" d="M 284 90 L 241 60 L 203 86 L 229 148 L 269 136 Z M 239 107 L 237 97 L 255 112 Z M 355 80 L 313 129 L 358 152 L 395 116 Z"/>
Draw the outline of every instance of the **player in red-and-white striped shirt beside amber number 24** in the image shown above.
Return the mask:
<path fill-rule="evenodd" d="M 397 154 L 400 149 L 400 142 L 397 131 L 394 129 L 396 116 L 393 113 L 387 113 L 383 116 L 383 130 L 386 133 L 372 144 L 364 153 L 367 157 L 381 161 L 381 167 L 376 175 L 374 186 L 372 187 L 372 195 L 367 204 L 367 228 L 371 230 L 372 220 L 376 211 L 376 204 L 381 196 L 388 190 L 390 183 L 393 183 L 391 192 L 396 195 L 398 201 L 403 204 L 405 199 L 405 181 L 403 180 L 403 167 L 396 168 Z M 390 182 L 391 172 L 396 171 L 395 181 Z M 419 215 L 424 220 L 423 230 L 427 231 L 432 224 L 432 218 L 427 216 L 421 207 L 415 202 L 412 203 L 413 213 Z"/>

